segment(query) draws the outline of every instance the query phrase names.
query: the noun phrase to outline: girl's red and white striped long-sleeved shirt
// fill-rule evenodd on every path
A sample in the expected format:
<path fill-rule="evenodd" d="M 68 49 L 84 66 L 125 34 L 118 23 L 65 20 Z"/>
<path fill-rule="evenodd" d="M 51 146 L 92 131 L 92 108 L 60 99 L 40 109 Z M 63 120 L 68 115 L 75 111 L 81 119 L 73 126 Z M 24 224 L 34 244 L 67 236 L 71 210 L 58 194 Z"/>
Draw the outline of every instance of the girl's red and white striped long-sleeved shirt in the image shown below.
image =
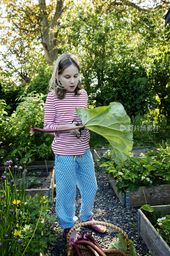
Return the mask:
<path fill-rule="evenodd" d="M 57 129 L 59 124 L 72 124 L 76 119 L 80 124 L 82 121 L 75 112 L 75 107 L 87 108 L 88 95 L 85 90 L 81 90 L 81 94 L 74 95 L 74 92 L 66 92 L 64 99 L 60 100 L 55 96 L 54 92 L 49 92 L 44 106 L 44 129 Z M 78 139 L 76 135 L 70 132 L 52 132 L 55 135 L 52 150 L 54 154 L 75 156 L 84 155 L 86 149 L 89 148 L 90 134 L 84 128 L 81 130 L 81 137 Z"/>

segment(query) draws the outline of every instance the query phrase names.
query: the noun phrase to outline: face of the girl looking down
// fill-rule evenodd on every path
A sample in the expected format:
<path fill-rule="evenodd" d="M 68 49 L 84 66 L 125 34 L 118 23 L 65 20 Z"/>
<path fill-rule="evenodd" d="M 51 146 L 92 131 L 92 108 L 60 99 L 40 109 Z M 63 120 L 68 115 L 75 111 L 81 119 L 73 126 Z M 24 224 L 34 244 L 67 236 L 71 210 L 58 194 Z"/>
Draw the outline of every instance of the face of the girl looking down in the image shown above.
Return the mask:
<path fill-rule="evenodd" d="M 65 68 L 62 74 L 59 76 L 59 81 L 64 89 L 66 89 L 66 92 L 74 92 L 79 82 L 78 68 L 74 64 L 71 64 Z"/>

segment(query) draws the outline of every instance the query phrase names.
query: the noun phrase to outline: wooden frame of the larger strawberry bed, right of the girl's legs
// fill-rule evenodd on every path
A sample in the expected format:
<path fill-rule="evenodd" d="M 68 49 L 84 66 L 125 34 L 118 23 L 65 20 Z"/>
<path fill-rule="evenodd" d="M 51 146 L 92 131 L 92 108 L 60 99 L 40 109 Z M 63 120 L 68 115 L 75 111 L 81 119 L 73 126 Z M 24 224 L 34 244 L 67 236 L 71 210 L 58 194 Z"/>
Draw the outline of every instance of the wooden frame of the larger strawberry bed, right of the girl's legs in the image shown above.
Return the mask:
<path fill-rule="evenodd" d="M 135 156 L 135 152 L 137 150 L 143 153 L 144 152 L 143 149 L 146 149 L 146 148 L 154 151 L 157 150 L 156 148 L 152 148 L 152 147 L 134 147 L 131 150 L 131 152 L 134 152 L 134 156 Z M 95 159 L 100 158 L 101 157 L 100 153 L 101 152 L 104 153 L 108 149 L 109 148 L 94 149 L 94 158 Z M 96 162 L 96 163 L 100 165 L 99 162 Z M 101 168 L 103 168 L 104 170 L 104 167 L 101 167 Z M 170 204 L 170 185 L 169 184 L 154 186 L 152 188 L 140 187 L 138 191 L 133 191 L 133 192 L 130 192 L 129 189 L 126 189 L 126 193 L 120 192 L 119 194 L 117 194 L 116 180 L 114 180 L 114 178 L 109 173 L 107 174 L 107 179 L 110 182 L 111 187 L 115 191 L 122 205 L 126 206 L 127 208 L 130 208 L 131 206 L 141 206 L 145 204 L 146 203 L 145 197 L 146 197 L 147 204 L 150 204 L 150 205 L 159 205 L 163 201 L 165 201 L 166 204 Z M 145 196 L 144 196 L 143 190 L 144 190 Z"/>

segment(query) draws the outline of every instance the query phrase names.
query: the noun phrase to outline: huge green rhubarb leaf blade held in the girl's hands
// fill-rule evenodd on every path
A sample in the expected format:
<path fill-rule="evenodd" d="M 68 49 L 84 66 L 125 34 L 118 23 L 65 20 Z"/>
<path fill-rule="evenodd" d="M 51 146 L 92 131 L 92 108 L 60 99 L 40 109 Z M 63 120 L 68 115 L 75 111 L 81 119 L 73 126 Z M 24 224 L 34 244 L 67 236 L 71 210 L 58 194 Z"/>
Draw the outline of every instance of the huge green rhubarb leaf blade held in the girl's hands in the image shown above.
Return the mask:
<path fill-rule="evenodd" d="M 76 108 L 75 110 L 87 129 L 102 135 L 110 142 L 115 163 L 122 165 L 129 155 L 129 150 L 133 147 L 133 135 L 128 131 L 131 120 L 123 105 L 111 102 L 109 106 L 93 109 Z"/>

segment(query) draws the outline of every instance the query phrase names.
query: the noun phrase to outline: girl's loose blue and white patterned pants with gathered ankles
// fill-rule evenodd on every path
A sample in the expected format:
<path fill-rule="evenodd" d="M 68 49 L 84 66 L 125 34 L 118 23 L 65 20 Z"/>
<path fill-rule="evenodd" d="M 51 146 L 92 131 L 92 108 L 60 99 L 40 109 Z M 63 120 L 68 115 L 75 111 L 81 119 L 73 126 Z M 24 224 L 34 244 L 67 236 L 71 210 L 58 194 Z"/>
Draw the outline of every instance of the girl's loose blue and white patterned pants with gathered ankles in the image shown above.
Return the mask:
<path fill-rule="evenodd" d="M 75 158 L 75 159 L 74 159 Z M 97 191 L 93 158 L 90 149 L 81 156 L 55 155 L 56 214 L 61 228 L 72 228 L 75 216 L 76 185 L 81 193 L 80 220 L 92 216 Z"/>

